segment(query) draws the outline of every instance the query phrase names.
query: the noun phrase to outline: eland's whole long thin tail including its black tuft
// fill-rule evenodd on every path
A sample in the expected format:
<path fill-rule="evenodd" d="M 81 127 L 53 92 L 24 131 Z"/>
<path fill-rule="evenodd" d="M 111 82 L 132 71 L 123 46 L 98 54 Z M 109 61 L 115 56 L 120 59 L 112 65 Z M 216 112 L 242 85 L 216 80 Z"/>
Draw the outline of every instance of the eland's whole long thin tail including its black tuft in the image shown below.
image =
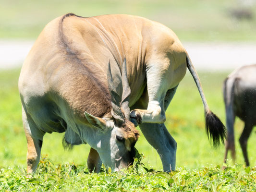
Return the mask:
<path fill-rule="evenodd" d="M 207 136 L 210 141 L 213 142 L 213 146 L 217 147 L 219 146 L 220 141 L 224 143 L 224 138 L 226 137 L 226 128 L 221 120 L 219 120 L 219 118 L 209 109 L 200 79 L 188 55 L 186 61 L 187 68 L 195 80 L 195 84 L 204 104 Z"/>

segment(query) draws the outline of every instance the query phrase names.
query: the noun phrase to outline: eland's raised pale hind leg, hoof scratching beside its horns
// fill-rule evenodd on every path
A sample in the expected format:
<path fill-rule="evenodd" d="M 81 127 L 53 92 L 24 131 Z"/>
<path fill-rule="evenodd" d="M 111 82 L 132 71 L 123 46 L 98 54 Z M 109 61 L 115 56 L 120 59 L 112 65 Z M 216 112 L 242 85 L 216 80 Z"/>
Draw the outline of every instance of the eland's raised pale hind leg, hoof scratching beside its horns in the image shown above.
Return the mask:
<path fill-rule="evenodd" d="M 170 56 L 172 57 L 172 56 Z M 146 109 L 134 109 L 130 117 L 141 123 L 164 123 L 166 120 L 164 110 L 164 100 L 167 91 L 179 84 L 186 72 L 186 60 L 182 64 L 170 64 L 171 60 L 156 61 L 154 64 L 148 64 L 146 69 L 148 104 Z M 173 70 L 173 65 L 177 64 L 177 69 Z M 135 123 L 136 124 L 136 123 Z"/>

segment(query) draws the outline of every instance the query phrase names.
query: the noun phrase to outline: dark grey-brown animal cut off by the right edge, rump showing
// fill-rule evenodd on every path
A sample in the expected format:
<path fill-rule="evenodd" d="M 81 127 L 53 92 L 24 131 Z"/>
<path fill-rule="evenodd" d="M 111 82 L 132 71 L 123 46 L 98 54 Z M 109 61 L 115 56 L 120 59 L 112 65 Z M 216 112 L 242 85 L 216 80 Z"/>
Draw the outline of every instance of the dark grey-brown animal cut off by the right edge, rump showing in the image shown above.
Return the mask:
<path fill-rule="evenodd" d="M 235 160 L 234 120 L 244 121 L 244 130 L 239 138 L 244 161 L 249 166 L 247 141 L 256 125 L 256 64 L 243 66 L 232 72 L 224 81 L 223 96 L 226 108 L 227 142 L 224 162 L 231 150 Z"/>

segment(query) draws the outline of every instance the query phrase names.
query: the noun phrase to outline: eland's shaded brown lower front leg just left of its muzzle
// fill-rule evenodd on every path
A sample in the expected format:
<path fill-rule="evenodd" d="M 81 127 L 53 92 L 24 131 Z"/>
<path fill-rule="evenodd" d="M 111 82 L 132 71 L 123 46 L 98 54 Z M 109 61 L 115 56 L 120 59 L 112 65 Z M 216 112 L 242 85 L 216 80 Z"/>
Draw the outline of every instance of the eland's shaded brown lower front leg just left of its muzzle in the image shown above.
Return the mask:
<path fill-rule="evenodd" d="M 100 171 L 101 165 L 102 165 L 102 162 L 100 160 L 98 152 L 95 149 L 91 148 L 87 158 L 87 166 L 88 166 L 89 172 L 98 173 Z"/>

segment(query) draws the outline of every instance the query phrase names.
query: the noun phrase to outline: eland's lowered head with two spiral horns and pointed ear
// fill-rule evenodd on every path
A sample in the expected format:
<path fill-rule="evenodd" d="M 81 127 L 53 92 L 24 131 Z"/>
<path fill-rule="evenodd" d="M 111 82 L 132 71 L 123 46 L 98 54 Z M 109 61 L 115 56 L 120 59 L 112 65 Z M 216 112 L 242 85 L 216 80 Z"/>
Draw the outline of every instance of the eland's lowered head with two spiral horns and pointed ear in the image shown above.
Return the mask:
<path fill-rule="evenodd" d="M 122 65 L 122 96 L 117 93 L 113 84 L 110 62 L 108 64 L 108 86 L 111 96 L 111 113 L 99 118 L 85 112 L 85 117 L 92 126 L 101 132 L 96 150 L 103 164 L 119 171 L 133 163 L 134 145 L 139 137 L 139 132 L 130 119 L 131 89 L 126 71 L 126 59 Z"/>

